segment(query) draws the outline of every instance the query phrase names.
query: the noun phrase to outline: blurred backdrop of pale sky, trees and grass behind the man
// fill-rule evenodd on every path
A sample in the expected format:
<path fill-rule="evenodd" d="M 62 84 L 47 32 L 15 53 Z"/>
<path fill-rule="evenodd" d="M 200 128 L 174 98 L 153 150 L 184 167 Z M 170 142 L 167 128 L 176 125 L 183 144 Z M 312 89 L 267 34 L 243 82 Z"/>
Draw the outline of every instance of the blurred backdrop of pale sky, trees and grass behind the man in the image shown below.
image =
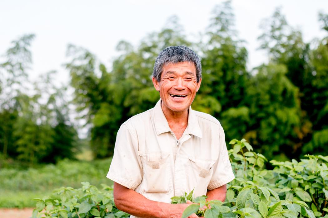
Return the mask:
<path fill-rule="evenodd" d="M 327 1 L 1 1 L 0 207 L 106 179 L 119 126 L 154 107 L 154 60 L 202 59 L 192 108 L 267 159 L 328 155 Z"/>

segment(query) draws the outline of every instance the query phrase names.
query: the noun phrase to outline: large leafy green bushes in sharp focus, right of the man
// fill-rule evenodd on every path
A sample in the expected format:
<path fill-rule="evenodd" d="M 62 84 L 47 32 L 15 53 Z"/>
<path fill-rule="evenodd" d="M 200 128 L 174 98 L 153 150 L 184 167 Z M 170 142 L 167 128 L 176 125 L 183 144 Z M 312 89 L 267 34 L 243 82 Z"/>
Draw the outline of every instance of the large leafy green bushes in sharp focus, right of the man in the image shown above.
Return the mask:
<path fill-rule="evenodd" d="M 266 158 L 253 152 L 246 140 L 232 140 L 229 157 L 236 179 L 227 184 L 226 201 L 194 198 L 193 192 L 172 197 L 172 203 L 195 204 L 183 217 L 196 213 L 212 217 L 328 217 L 328 156 L 307 155 L 307 159 L 270 161 L 274 170 L 263 168 Z"/>

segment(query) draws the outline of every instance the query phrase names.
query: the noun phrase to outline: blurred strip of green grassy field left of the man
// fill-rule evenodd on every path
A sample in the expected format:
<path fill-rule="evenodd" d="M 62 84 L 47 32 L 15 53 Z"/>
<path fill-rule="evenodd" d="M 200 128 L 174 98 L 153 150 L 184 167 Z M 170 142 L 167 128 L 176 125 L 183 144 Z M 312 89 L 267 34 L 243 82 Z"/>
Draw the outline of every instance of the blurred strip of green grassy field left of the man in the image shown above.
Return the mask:
<path fill-rule="evenodd" d="M 62 160 L 36 168 L 0 169 L 0 208 L 35 207 L 33 198 L 50 195 L 62 186 L 78 188 L 83 181 L 98 188 L 102 183 L 112 185 L 106 178 L 111 160 Z"/>

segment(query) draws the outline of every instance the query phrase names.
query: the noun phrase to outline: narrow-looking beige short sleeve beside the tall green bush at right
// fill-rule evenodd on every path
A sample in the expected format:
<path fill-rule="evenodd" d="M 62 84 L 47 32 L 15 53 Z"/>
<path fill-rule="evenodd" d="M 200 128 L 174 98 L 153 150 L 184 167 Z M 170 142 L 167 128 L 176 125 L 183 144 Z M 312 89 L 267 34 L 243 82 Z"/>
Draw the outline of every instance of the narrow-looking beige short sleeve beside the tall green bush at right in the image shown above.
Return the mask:
<path fill-rule="evenodd" d="M 221 127 L 221 126 L 220 126 Z M 213 165 L 213 176 L 208 185 L 208 189 L 216 189 L 235 178 L 229 160 L 227 145 L 225 143 L 225 136 L 223 128 L 219 129 L 219 157 Z"/>

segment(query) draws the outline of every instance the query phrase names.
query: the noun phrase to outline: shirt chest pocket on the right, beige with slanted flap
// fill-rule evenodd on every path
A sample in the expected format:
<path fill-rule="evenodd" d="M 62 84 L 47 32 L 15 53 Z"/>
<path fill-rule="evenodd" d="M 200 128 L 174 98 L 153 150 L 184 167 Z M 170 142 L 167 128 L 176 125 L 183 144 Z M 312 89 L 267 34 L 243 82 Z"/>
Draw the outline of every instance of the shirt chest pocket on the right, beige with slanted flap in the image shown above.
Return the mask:
<path fill-rule="evenodd" d="M 213 175 L 212 166 L 214 163 L 215 160 L 203 160 L 188 157 L 186 170 L 189 179 L 187 180 L 187 183 L 190 190 L 195 188 L 195 197 L 206 195 L 207 187 Z"/>

